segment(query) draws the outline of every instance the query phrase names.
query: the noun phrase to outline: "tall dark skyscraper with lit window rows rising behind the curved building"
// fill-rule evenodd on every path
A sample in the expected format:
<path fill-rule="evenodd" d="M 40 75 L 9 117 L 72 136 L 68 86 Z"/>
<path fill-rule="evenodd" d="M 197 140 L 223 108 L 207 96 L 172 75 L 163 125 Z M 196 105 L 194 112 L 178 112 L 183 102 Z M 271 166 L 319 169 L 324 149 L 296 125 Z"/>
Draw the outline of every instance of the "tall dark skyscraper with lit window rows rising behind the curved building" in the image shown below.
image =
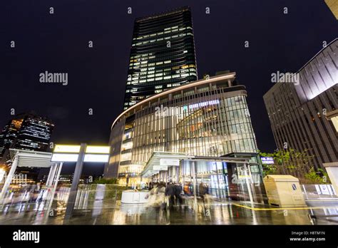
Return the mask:
<path fill-rule="evenodd" d="M 123 110 L 198 79 L 188 6 L 135 19 Z"/>

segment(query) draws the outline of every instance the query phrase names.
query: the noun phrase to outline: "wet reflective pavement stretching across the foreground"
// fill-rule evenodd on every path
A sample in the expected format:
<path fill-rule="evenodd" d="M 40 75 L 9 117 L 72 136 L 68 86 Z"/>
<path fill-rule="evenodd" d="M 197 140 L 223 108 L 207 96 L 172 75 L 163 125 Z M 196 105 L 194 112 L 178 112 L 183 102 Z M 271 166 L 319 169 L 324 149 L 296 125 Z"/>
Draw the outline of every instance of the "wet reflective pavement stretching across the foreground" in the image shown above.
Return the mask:
<path fill-rule="evenodd" d="M 106 205 L 94 201 L 84 209 L 73 210 L 65 220 L 65 205 L 53 204 L 53 212 L 43 203 L 5 205 L 0 224 L 338 224 L 338 201 L 313 201 L 309 207 L 277 209 L 267 205 L 231 200 L 185 204 L 168 209 L 146 205 Z"/>

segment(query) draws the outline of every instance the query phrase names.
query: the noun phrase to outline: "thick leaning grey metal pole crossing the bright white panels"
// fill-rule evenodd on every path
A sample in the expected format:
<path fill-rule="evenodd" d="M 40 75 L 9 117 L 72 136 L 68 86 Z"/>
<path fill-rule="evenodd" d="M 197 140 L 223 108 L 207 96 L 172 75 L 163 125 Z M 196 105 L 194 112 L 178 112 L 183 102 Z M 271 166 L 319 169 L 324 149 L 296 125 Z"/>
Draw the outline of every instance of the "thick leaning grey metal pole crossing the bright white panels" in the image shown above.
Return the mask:
<path fill-rule="evenodd" d="M 78 181 L 80 180 L 81 177 L 86 147 L 87 147 L 86 143 L 81 143 L 80 153 L 78 154 L 78 161 L 76 162 L 73 182 L 71 183 L 71 192 L 69 192 L 65 219 L 70 219 L 73 213 L 76 200 L 76 193 L 78 191 Z"/>

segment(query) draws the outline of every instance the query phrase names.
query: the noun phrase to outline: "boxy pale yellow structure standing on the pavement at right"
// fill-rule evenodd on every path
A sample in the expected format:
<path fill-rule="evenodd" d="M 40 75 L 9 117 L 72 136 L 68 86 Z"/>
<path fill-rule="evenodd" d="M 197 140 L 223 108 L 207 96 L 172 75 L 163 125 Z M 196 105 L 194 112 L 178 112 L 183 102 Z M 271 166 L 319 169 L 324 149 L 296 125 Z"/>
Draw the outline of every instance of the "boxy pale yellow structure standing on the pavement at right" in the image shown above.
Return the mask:
<path fill-rule="evenodd" d="M 263 182 L 270 205 L 307 207 L 297 177 L 292 175 L 267 175 Z"/>

